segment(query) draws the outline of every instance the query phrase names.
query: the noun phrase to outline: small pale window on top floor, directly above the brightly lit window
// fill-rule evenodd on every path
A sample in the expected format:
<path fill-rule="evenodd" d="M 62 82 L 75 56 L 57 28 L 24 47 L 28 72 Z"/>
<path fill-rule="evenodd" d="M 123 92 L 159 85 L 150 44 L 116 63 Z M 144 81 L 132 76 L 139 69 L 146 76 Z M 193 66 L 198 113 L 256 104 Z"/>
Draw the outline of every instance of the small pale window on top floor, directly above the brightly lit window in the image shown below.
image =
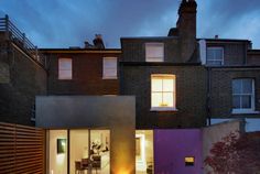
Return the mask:
<path fill-rule="evenodd" d="M 162 48 L 161 56 L 150 56 L 150 47 L 160 47 Z M 148 42 L 145 43 L 145 62 L 163 62 L 164 61 L 164 43 L 162 42 Z"/>

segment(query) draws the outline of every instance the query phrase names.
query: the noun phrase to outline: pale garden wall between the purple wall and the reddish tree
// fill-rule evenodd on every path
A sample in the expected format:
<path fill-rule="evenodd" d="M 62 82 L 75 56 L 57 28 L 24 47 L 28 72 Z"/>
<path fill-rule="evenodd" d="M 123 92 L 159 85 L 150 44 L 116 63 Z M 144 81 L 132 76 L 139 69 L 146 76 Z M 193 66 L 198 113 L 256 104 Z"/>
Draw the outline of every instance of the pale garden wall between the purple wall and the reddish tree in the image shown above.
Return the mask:
<path fill-rule="evenodd" d="M 242 131 L 242 122 L 239 120 L 227 121 L 204 128 L 203 131 L 203 161 L 207 155 L 210 155 L 210 149 L 214 143 L 221 141 L 221 139 L 231 132 Z M 210 167 L 204 166 L 204 173 L 210 172 Z"/>

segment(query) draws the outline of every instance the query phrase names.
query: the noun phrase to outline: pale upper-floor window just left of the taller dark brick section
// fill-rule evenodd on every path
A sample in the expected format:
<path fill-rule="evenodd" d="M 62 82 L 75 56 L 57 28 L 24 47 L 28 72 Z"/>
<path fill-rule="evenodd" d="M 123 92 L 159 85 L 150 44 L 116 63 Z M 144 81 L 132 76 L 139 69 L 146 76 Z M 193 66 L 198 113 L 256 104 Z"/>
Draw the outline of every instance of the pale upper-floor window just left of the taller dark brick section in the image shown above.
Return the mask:
<path fill-rule="evenodd" d="M 117 57 L 102 58 L 102 78 L 115 79 L 117 78 Z"/>

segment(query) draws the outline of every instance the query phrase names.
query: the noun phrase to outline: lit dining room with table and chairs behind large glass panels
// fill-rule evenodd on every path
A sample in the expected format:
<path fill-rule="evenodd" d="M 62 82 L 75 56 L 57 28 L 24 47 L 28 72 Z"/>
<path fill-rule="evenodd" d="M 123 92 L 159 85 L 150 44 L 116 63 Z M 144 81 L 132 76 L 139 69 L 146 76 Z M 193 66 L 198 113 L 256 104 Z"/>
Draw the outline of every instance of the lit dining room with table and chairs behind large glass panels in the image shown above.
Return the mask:
<path fill-rule="evenodd" d="M 48 134 L 50 174 L 67 174 L 68 160 L 69 174 L 110 173 L 109 130 L 69 130 L 69 138 L 67 130 L 50 130 Z"/>

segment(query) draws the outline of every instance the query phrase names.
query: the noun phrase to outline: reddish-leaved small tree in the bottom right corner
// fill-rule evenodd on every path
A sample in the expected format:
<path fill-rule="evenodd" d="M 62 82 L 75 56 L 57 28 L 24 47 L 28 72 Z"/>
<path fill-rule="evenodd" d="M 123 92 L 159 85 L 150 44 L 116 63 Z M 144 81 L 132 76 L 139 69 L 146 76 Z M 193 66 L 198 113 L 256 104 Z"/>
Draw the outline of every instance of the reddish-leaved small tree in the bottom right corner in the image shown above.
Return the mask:
<path fill-rule="evenodd" d="M 216 174 L 260 173 L 260 132 L 231 132 L 214 143 L 204 163 Z"/>

